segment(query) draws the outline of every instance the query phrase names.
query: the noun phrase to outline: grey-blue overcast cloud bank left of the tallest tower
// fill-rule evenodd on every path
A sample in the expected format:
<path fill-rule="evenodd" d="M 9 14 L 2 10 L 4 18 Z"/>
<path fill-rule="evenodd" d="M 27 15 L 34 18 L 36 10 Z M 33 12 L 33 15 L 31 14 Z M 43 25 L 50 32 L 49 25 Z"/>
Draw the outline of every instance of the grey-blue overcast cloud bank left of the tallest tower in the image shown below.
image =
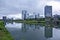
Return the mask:
<path fill-rule="evenodd" d="M 21 13 L 23 9 L 43 15 L 44 6 L 50 1 L 59 0 L 0 0 L 0 15 Z"/>

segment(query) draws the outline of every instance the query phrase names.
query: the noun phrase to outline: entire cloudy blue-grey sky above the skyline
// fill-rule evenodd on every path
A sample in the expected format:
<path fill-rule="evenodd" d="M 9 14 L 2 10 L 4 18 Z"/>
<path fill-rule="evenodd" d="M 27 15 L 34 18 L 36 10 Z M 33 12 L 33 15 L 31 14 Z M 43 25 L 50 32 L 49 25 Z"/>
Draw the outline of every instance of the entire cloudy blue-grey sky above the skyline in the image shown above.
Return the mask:
<path fill-rule="evenodd" d="M 38 12 L 44 15 L 46 5 L 53 7 L 53 15 L 60 15 L 60 0 L 0 0 L 0 18 L 2 16 L 22 18 L 22 10 L 27 10 L 29 13 Z"/>

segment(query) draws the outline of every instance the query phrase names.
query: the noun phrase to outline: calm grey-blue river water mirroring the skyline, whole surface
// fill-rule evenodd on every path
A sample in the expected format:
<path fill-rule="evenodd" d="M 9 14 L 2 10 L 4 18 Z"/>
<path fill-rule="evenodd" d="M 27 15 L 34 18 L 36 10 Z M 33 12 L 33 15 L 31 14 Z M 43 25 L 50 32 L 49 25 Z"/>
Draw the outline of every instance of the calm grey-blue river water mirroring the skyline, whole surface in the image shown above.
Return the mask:
<path fill-rule="evenodd" d="M 14 22 L 6 23 L 5 27 L 14 40 L 60 40 L 60 26 L 48 27 Z"/>

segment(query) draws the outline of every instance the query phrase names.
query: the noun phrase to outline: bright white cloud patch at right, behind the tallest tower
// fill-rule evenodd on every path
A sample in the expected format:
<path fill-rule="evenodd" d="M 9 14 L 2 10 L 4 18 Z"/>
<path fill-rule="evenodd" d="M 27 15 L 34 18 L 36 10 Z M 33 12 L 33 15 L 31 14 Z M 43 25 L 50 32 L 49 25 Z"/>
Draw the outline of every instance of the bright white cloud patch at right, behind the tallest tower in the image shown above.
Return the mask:
<path fill-rule="evenodd" d="M 50 1 L 47 3 L 47 5 L 52 6 L 53 14 L 59 14 L 60 15 L 60 2 L 59 1 Z"/>

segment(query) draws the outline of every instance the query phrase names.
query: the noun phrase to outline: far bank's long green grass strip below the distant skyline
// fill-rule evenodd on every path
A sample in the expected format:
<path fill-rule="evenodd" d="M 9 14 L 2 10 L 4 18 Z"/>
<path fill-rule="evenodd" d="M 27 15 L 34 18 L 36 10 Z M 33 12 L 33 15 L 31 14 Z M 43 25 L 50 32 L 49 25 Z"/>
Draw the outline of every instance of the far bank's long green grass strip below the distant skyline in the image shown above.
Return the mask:
<path fill-rule="evenodd" d="M 45 25 L 44 20 L 14 20 L 16 23 L 26 23 L 26 24 L 41 24 Z"/>

